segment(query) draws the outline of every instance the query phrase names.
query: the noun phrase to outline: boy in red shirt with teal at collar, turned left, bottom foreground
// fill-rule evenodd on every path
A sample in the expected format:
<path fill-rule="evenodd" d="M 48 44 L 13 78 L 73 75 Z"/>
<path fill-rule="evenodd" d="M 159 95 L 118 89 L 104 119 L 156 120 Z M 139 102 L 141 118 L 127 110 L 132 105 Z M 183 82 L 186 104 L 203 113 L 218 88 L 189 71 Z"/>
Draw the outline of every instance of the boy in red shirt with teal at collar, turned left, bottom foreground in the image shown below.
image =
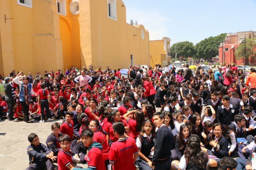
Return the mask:
<path fill-rule="evenodd" d="M 106 170 L 102 155 L 102 146 L 100 143 L 93 141 L 92 130 L 84 129 L 81 133 L 81 140 L 84 146 L 88 148 L 88 153 L 84 157 L 87 161 L 88 168 L 82 170 Z M 79 168 L 73 168 L 72 170 L 79 170 Z"/>

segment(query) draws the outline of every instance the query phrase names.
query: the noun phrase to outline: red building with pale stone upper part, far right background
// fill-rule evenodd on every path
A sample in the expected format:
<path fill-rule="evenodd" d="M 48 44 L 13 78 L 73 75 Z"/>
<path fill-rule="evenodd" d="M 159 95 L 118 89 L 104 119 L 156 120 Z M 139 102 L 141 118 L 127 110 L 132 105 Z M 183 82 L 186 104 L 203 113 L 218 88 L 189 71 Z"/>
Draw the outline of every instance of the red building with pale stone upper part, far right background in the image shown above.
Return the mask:
<path fill-rule="evenodd" d="M 244 59 L 236 59 L 235 58 L 235 50 L 237 50 L 240 45 L 241 40 L 246 38 L 256 37 L 256 32 L 253 31 L 245 31 L 245 32 L 237 32 L 237 33 L 227 33 L 224 43 L 221 43 L 219 46 L 219 62 L 226 64 L 235 63 L 236 65 L 243 65 Z M 224 57 L 223 57 L 224 54 Z M 249 60 L 246 60 L 247 64 L 254 65 L 256 64 L 256 60 L 249 57 Z"/>

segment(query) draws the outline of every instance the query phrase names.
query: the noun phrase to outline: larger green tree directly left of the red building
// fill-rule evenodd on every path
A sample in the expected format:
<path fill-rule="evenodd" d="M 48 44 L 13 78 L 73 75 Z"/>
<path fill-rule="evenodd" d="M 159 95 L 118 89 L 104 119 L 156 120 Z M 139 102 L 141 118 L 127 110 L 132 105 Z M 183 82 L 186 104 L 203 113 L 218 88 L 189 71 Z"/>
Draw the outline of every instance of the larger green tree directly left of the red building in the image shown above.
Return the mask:
<path fill-rule="evenodd" d="M 222 33 L 216 37 L 205 38 L 195 46 L 195 58 L 203 58 L 209 61 L 219 54 L 219 45 L 223 43 L 227 33 Z"/>

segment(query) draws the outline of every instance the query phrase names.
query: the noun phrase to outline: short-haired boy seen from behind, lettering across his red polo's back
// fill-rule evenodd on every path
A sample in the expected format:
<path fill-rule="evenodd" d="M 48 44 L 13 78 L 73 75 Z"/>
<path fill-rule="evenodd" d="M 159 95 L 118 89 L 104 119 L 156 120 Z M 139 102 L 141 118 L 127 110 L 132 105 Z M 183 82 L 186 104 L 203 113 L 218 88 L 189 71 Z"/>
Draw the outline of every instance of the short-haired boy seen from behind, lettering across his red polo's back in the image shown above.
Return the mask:
<path fill-rule="evenodd" d="M 118 141 L 113 142 L 109 152 L 109 163 L 112 170 L 135 170 L 134 162 L 138 156 L 138 148 L 134 138 L 124 135 L 124 124 L 115 122 L 113 131 Z"/>

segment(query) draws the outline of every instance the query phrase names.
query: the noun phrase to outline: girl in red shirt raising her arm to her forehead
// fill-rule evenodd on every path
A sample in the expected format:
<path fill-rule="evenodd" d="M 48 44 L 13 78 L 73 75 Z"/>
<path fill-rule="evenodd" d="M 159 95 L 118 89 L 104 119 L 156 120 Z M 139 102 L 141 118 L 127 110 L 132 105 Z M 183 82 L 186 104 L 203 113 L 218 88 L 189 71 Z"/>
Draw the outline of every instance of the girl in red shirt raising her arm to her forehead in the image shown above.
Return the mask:
<path fill-rule="evenodd" d="M 134 120 L 130 118 L 130 114 L 134 114 Z M 123 118 L 127 121 L 130 125 L 130 133 L 129 136 L 135 138 L 140 134 L 142 129 L 142 124 L 145 121 L 144 113 L 140 110 L 132 110 L 128 111 L 126 114 L 123 115 Z"/>

